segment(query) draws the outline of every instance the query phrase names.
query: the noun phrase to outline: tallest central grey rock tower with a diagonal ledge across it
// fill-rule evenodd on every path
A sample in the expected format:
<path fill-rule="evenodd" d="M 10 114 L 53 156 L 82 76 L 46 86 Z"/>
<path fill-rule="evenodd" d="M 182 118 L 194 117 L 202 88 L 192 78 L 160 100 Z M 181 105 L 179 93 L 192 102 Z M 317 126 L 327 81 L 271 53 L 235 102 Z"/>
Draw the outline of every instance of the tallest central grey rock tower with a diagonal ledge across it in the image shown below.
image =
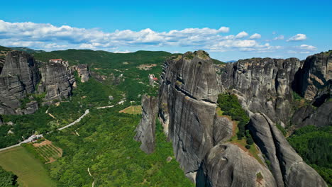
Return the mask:
<path fill-rule="evenodd" d="M 160 118 L 184 172 L 195 173 L 214 145 L 216 70 L 206 52 L 187 52 L 164 64 Z"/>

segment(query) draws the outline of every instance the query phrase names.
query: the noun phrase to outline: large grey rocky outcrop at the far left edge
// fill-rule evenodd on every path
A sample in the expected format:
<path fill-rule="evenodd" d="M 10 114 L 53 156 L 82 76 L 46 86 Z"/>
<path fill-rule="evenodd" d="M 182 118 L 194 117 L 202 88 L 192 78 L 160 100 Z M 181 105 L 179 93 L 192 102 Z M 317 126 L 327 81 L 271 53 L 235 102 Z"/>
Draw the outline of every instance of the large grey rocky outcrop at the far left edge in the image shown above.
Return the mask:
<path fill-rule="evenodd" d="M 26 52 L 8 52 L 0 72 L 0 114 L 16 114 L 21 99 L 33 94 L 40 80 L 38 66 Z M 38 107 L 28 109 L 28 113 Z M 18 111 L 24 113 L 24 111 Z"/>

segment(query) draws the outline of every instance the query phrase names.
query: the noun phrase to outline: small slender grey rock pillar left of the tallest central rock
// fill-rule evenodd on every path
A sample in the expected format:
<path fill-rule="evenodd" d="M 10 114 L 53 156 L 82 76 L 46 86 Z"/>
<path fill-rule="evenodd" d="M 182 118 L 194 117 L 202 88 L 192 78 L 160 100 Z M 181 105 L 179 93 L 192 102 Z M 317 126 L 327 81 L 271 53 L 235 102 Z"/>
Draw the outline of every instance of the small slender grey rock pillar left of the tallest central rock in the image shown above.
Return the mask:
<path fill-rule="evenodd" d="M 138 124 L 134 139 L 142 142 L 140 149 L 147 154 L 155 151 L 155 118 L 157 115 L 157 98 L 142 97 L 142 119 Z"/>

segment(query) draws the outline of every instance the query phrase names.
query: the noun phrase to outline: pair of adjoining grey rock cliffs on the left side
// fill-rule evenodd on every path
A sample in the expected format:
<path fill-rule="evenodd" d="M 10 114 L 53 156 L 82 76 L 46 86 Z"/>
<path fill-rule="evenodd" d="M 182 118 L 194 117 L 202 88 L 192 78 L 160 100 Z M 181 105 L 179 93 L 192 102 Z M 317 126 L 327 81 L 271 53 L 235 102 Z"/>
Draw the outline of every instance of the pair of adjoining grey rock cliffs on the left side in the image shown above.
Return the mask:
<path fill-rule="evenodd" d="M 40 67 L 42 64 L 42 67 Z M 31 94 L 46 93 L 44 104 L 67 98 L 72 91 L 74 76 L 62 64 L 37 63 L 26 52 L 9 51 L 1 60 L 0 114 L 30 114 L 38 110 Z M 29 97 L 22 107 L 23 99 Z"/>

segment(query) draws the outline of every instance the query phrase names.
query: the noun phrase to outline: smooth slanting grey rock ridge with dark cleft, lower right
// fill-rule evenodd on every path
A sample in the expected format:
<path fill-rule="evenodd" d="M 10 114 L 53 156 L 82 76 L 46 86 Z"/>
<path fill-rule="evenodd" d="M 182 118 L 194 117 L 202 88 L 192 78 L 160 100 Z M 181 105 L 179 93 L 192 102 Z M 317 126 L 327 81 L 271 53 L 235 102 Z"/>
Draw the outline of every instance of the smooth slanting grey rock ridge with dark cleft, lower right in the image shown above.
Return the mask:
<path fill-rule="evenodd" d="M 289 145 L 267 115 L 255 113 L 249 125 L 255 143 L 270 161 L 278 186 L 327 186 Z"/>

